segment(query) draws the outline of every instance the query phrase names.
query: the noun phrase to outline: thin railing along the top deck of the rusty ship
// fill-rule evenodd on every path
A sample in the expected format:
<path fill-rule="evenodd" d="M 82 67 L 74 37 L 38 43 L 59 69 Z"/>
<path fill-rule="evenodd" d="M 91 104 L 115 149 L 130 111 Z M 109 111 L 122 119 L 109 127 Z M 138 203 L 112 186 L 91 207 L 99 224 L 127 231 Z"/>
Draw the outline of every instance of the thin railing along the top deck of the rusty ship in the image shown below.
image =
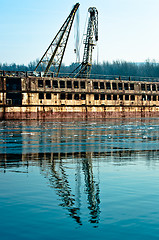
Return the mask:
<path fill-rule="evenodd" d="M 43 72 L 34 71 L 2 71 L 0 70 L 0 76 L 6 77 L 43 77 Z M 58 78 L 74 78 L 76 74 L 60 73 Z M 50 72 L 46 77 L 54 78 L 54 72 Z M 142 82 L 159 82 L 159 77 L 140 77 L 140 76 L 119 76 L 119 75 L 102 75 L 102 74 L 90 74 L 90 79 L 100 80 L 123 80 L 123 81 L 142 81 Z"/>

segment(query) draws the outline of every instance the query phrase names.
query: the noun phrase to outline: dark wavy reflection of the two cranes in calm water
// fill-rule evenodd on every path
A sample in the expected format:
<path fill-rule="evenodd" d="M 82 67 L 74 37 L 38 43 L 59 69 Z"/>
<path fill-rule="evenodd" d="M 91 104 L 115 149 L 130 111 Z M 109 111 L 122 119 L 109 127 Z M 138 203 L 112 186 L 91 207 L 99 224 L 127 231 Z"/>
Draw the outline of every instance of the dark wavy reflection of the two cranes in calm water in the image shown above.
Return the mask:
<path fill-rule="evenodd" d="M 45 155 L 45 154 L 44 154 Z M 47 158 L 48 158 L 47 154 Z M 93 173 L 92 159 L 87 153 L 72 154 L 51 154 L 51 164 L 49 168 L 42 165 L 42 174 L 49 179 L 50 186 L 56 191 L 59 197 L 59 205 L 68 210 L 69 215 L 80 225 L 81 219 L 81 192 L 87 196 L 87 208 L 89 210 L 89 221 L 95 226 L 99 223 L 100 215 L 100 197 L 99 197 L 99 181 L 95 179 Z M 67 161 L 71 161 L 75 173 L 70 176 L 67 173 Z M 84 176 L 84 185 L 81 185 L 81 178 Z M 72 181 L 74 178 L 75 193 L 73 193 Z M 74 184 L 73 184 L 74 185 Z"/>

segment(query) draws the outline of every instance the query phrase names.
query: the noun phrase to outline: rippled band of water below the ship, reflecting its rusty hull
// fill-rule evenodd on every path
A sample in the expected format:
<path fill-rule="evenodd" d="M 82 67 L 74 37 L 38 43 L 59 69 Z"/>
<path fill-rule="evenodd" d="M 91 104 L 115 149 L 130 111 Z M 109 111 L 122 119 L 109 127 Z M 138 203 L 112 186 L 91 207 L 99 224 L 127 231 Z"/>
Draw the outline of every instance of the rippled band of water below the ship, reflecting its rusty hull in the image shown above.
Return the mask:
<path fill-rule="evenodd" d="M 1 153 L 157 150 L 158 120 L 2 122 Z"/>

